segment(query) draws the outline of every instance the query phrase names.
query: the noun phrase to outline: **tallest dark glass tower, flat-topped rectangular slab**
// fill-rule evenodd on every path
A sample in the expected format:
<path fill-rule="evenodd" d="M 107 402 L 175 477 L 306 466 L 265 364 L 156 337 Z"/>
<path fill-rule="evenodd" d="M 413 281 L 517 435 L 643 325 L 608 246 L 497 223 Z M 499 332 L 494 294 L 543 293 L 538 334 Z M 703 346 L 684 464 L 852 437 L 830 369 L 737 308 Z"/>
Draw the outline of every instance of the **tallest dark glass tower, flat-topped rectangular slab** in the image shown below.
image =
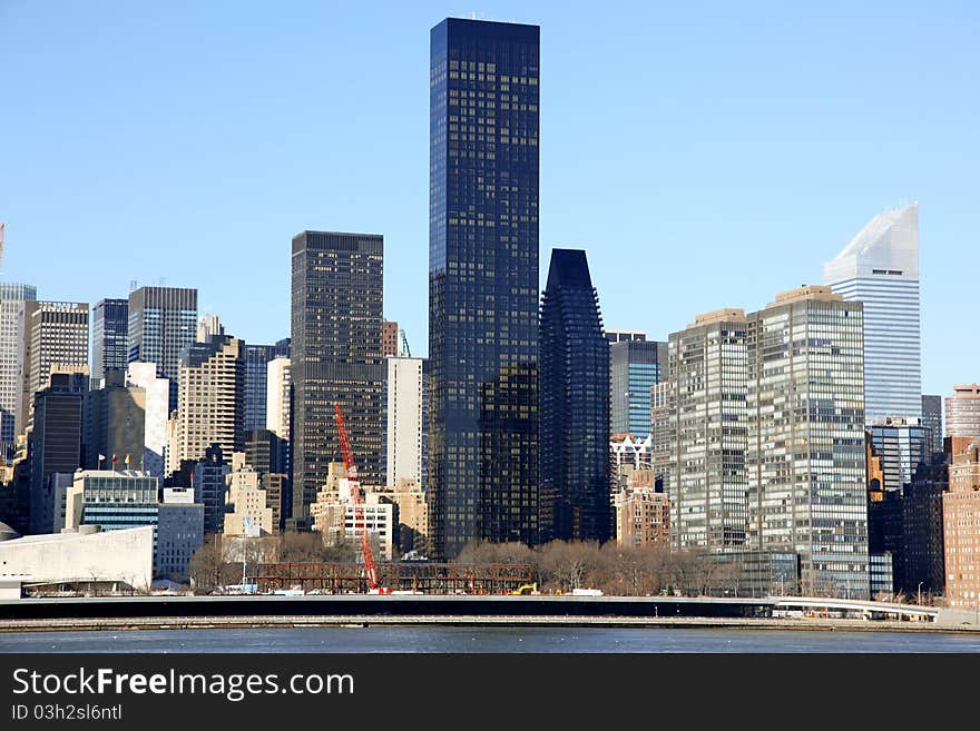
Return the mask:
<path fill-rule="evenodd" d="M 432 29 L 431 553 L 538 533 L 539 28 Z"/>

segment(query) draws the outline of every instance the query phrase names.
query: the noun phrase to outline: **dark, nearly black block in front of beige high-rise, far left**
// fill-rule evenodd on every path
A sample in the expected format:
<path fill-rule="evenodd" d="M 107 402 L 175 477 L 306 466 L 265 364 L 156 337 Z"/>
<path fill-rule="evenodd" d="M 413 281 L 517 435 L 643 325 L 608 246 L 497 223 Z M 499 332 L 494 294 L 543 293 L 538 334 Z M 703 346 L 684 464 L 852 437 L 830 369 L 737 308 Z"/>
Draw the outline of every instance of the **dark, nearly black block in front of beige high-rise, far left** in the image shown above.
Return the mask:
<path fill-rule="evenodd" d="M 79 373 L 50 374 L 50 385 L 33 396 L 30 432 L 30 532 L 53 530 L 57 473 L 81 466 L 82 399 L 88 392 L 88 366 Z"/>

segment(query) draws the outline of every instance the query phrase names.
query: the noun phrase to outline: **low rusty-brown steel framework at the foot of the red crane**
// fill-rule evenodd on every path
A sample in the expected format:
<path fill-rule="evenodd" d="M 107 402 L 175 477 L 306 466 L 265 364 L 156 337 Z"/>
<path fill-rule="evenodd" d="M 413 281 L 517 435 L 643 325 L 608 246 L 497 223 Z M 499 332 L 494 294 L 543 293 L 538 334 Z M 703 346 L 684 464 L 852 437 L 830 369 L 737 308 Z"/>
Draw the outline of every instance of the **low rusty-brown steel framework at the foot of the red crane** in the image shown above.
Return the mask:
<path fill-rule="evenodd" d="M 380 563 L 379 582 L 423 594 L 509 594 L 533 582 L 527 564 Z M 248 583 L 261 594 L 302 590 L 322 594 L 366 594 L 364 565 L 356 563 L 261 563 Z"/>

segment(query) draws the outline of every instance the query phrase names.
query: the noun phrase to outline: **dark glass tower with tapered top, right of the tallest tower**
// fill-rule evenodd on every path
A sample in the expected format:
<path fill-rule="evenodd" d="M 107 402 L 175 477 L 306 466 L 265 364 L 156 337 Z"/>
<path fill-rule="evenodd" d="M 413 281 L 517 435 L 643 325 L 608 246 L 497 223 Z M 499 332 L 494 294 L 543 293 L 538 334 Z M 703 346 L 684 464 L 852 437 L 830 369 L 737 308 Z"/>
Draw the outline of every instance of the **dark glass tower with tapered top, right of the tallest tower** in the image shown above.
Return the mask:
<path fill-rule="evenodd" d="M 585 251 L 551 251 L 539 343 L 540 540 L 608 541 L 609 345 Z"/>

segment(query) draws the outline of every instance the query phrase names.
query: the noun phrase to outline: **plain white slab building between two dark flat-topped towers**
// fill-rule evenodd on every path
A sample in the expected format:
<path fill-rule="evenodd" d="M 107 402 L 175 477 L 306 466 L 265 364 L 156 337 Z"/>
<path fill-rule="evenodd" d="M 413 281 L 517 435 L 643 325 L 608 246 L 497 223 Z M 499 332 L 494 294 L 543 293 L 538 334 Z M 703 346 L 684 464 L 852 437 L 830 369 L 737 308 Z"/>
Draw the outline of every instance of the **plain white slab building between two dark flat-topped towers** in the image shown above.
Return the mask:
<path fill-rule="evenodd" d="M 389 356 L 385 362 L 385 484 L 413 480 L 424 486 L 424 358 Z"/>

